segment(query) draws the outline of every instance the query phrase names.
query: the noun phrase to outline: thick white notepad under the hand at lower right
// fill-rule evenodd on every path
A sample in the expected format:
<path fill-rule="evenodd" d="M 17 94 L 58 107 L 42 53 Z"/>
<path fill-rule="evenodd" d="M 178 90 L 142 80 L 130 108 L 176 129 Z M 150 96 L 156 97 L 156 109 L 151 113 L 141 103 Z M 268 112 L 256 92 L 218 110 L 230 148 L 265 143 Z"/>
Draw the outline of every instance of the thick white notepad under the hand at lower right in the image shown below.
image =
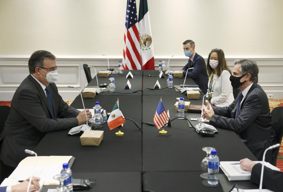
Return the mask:
<path fill-rule="evenodd" d="M 262 163 L 262 161 L 254 161 L 255 163 Z M 251 172 L 243 171 L 240 168 L 239 161 L 220 161 L 219 167 L 225 173 L 229 181 L 249 180 L 251 178 Z M 270 163 L 264 162 L 264 166 L 276 171 L 280 171 L 279 168 L 273 166 Z"/>

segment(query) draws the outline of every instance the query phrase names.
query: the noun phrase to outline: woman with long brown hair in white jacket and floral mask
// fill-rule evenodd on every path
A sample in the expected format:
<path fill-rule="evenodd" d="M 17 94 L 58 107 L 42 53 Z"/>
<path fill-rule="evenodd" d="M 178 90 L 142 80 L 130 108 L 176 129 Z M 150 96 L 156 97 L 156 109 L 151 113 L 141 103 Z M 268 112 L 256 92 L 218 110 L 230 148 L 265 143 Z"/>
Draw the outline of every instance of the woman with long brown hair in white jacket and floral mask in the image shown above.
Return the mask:
<path fill-rule="evenodd" d="M 212 49 L 208 55 L 206 69 L 209 77 L 208 95 L 210 102 L 219 107 L 229 106 L 233 101 L 233 88 L 229 80 L 231 71 L 221 49 Z"/>

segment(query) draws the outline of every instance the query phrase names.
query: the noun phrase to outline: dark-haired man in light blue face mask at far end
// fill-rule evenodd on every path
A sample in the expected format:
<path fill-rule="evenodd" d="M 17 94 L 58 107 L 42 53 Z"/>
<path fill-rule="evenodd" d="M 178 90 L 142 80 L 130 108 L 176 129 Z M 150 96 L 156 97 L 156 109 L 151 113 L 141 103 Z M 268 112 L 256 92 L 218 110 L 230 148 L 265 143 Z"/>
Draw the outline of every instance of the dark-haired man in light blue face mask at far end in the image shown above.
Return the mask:
<path fill-rule="evenodd" d="M 208 89 L 208 74 L 206 70 L 205 61 L 202 56 L 195 53 L 195 42 L 192 40 L 186 40 L 183 43 L 184 54 L 189 57 L 189 62 L 183 67 L 182 72 L 183 76 L 186 75 L 194 80 L 195 84 L 199 86 L 201 91 L 206 94 Z"/>

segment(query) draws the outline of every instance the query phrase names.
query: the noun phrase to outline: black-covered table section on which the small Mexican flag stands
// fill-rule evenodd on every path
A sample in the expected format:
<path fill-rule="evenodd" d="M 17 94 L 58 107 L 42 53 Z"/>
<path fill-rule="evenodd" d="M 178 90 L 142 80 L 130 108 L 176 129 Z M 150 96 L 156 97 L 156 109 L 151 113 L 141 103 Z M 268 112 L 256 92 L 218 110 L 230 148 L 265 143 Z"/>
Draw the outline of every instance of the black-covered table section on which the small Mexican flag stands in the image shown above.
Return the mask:
<path fill-rule="evenodd" d="M 100 101 L 101 106 L 111 112 L 116 100 L 116 97 L 101 95 L 96 99 L 84 98 L 84 103 L 86 108 L 91 108 L 95 101 Z M 75 99 L 72 106 L 82 108 L 81 99 Z M 141 125 L 141 110 L 133 113 L 129 106 L 141 109 L 141 96 L 119 96 L 119 108 L 124 117 Z M 82 146 L 79 136 L 68 136 L 68 130 L 61 130 L 47 133 L 34 151 L 39 156 L 74 156 L 73 172 L 141 171 L 141 131 L 133 122 L 124 123 L 121 129 L 124 136 L 115 136 L 118 128 L 110 130 L 107 123 L 98 130 L 104 131 L 100 146 Z"/>

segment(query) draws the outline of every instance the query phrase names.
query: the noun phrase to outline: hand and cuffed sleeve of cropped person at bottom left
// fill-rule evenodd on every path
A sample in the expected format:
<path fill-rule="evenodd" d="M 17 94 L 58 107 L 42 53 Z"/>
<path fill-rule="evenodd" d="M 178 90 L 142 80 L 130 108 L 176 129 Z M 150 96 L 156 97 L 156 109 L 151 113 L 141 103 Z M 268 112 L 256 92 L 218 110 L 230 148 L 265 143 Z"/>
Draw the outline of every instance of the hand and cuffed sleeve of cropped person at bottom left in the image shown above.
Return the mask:
<path fill-rule="evenodd" d="M 39 181 L 40 178 L 38 177 L 32 177 L 32 182 L 29 187 L 29 191 L 38 191 L 40 189 Z M 23 181 L 22 183 L 19 183 L 17 185 L 13 186 L 5 186 L 0 187 L 0 192 L 26 192 L 27 187 L 29 185 L 29 178 L 26 181 Z"/>

